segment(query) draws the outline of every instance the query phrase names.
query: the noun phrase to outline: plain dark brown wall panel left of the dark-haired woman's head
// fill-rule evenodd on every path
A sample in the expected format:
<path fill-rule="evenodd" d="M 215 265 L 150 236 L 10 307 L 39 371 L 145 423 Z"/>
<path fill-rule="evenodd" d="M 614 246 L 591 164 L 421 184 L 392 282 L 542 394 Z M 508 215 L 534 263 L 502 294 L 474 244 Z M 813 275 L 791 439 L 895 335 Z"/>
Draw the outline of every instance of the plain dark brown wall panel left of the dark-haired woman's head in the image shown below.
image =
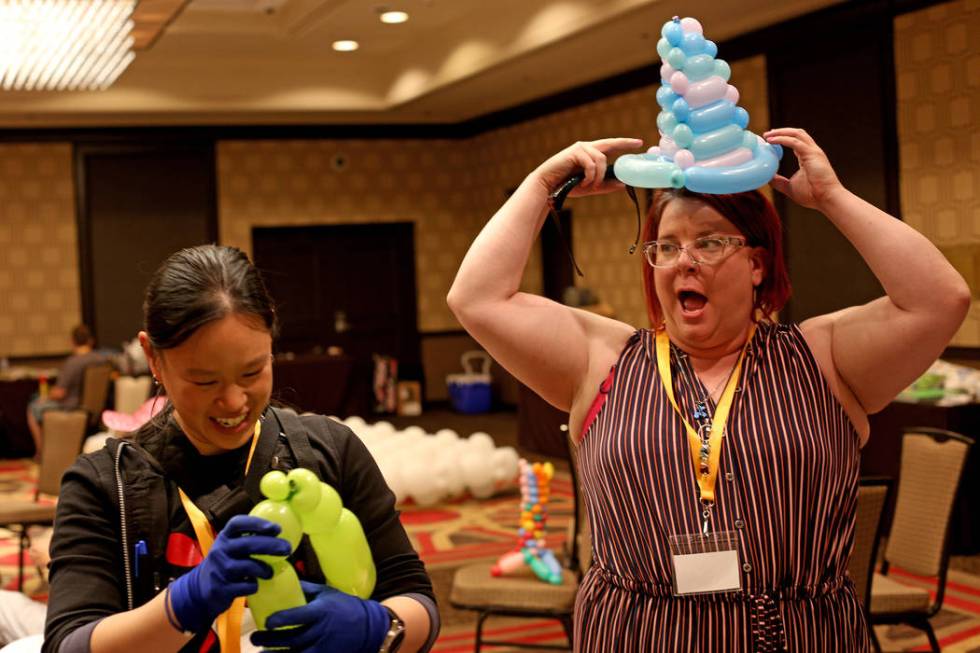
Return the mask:
<path fill-rule="evenodd" d="M 177 250 L 217 236 L 210 143 L 76 146 L 82 315 L 118 347 L 143 323 L 150 276 Z"/>

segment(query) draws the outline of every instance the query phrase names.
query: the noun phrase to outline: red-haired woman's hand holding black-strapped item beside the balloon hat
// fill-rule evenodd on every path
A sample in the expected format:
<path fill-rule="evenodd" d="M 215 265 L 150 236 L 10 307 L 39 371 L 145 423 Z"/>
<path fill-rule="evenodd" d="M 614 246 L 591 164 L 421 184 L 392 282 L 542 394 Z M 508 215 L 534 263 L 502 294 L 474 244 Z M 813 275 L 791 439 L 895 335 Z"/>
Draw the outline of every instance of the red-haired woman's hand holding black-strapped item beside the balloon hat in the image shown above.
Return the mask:
<path fill-rule="evenodd" d="M 542 163 L 531 173 L 551 194 L 565 180 L 578 172 L 585 178 L 569 193 L 571 197 L 611 193 L 623 187 L 616 180 L 606 181 L 606 166 L 610 155 L 618 155 L 643 147 L 639 138 L 602 138 L 597 141 L 579 141 Z"/>

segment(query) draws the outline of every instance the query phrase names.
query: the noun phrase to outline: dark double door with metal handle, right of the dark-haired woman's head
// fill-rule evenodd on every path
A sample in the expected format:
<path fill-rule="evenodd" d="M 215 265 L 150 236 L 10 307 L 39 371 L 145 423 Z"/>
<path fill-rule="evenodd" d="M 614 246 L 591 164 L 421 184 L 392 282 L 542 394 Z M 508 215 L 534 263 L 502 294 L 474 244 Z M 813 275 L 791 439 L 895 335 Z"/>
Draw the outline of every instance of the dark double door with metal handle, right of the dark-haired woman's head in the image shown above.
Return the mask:
<path fill-rule="evenodd" d="M 336 346 L 398 359 L 420 378 L 412 223 L 256 227 L 252 252 L 279 306 L 280 351 Z"/>

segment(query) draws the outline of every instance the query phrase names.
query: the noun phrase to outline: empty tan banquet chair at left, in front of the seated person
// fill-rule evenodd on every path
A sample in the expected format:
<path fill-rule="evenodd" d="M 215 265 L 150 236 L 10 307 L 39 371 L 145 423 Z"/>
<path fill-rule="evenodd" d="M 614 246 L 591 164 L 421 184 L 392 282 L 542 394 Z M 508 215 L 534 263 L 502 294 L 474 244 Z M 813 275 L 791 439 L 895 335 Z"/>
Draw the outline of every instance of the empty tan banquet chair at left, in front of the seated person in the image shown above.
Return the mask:
<path fill-rule="evenodd" d="M 19 539 L 17 589 L 24 588 L 24 552 L 30 547 L 28 528 L 54 523 L 55 504 L 41 501 L 41 495 L 58 496 L 61 477 L 75 462 L 82 447 L 88 414 L 82 410 L 51 410 L 41 424 L 41 462 L 32 500 L 0 503 L 0 527 L 13 531 Z"/>

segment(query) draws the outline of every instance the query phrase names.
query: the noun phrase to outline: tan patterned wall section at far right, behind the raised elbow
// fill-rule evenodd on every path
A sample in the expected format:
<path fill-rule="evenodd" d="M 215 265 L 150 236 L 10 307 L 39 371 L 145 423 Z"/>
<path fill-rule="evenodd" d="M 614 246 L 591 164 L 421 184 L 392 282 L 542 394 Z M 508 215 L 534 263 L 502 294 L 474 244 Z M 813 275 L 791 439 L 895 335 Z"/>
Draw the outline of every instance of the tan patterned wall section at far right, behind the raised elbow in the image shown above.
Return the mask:
<path fill-rule="evenodd" d="M 973 305 L 953 345 L 980 346 L 980 3 L 895 21 L 902 217 L 960 270 Z"/>

